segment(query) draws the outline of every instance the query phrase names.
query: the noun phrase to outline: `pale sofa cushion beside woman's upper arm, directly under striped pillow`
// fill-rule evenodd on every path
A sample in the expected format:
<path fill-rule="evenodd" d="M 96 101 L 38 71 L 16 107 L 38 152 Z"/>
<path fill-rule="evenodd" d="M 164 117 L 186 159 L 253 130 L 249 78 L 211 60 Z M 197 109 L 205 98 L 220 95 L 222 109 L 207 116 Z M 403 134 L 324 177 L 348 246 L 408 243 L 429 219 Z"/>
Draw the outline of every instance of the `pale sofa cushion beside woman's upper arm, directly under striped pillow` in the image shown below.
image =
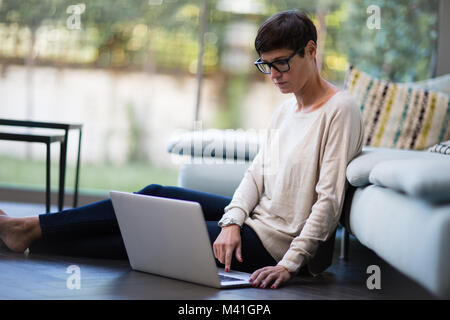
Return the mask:
<path fill-rule="evenodd" d="M 347 180 L 355 187 L 368 185 L 372 169 L 380 162 L 400 159 L 442 159 L 448 156 L 416 150 L 401 150 L 364 146 L 362 152 L 347 166 Z"/>

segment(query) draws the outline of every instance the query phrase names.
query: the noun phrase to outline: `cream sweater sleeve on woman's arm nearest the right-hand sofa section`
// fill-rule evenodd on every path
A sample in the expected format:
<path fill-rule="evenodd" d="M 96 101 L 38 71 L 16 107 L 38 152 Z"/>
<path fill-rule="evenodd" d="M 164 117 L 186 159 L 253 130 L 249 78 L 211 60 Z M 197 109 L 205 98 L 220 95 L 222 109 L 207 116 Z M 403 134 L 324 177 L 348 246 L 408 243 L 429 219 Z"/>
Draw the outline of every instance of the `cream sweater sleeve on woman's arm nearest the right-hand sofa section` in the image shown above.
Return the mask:
<path fill-rule="evenodd" d="M 336 110 L 321 148 L 317 200 L 312 206 L 304 227 L 295 237 L 288 251 L 279 261 L 290 272 L 298 270 L 314 256 L 319 241 L 326 241 L 337 226 L 344 201 L 348 163 L 361 152 L 363 120 L 354 103 L 341 105 Z"/>

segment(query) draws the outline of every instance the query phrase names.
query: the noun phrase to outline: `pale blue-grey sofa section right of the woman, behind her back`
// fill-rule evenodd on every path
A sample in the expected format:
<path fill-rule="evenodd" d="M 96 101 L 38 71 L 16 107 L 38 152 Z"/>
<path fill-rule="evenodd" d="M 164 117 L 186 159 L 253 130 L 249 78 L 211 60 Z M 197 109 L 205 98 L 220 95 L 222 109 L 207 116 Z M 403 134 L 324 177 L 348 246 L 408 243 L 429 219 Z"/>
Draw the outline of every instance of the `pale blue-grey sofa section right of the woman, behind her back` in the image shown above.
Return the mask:
<path fill-rule="evenodd" d="M 430 293 L 448 299 L 450 156 L 366 146 L 346 175 L 340 221 L 345 230 Z"/>

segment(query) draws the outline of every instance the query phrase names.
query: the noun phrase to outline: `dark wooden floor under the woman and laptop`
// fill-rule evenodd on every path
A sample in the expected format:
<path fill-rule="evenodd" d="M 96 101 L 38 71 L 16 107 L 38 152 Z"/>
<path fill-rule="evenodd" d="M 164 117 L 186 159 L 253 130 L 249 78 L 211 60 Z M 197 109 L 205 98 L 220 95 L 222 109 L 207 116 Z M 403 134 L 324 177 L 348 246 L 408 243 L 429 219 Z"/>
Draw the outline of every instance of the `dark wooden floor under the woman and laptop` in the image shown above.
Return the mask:
<path fill-rule="evenodd" d="M 0 202 L 12 216 L 34 215 L 43 206 Z M 333 265 L 318 277 L 297 276 L 277 290 L 242 288 L 217 290 L 183 281 L 132 271 L 125 260 L 17 254 L 0 250 L 0 299 L 221 299 L 221 300 L 372 300 L 433 299 L 416 283 L 351 238 L 350 260 L 339 259 L 336 240 Z M 80 269 L 80 289 L 69 289 L 67 268 Z M 378 265 L 381 289 L 369 290 L 367 267 Z"/>

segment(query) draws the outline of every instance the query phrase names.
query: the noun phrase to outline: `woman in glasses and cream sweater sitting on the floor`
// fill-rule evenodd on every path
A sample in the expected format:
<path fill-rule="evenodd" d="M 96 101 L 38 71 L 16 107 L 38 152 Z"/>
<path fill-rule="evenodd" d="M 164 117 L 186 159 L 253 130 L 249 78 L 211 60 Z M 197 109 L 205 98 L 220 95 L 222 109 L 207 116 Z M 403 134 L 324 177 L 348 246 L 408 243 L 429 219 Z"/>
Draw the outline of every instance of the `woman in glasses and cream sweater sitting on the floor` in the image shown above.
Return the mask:
<path fill-rule="evenodd" d="M 334 235 L 363 122 L 349 93 L 320 76 L 317 32 L 306 15 L 273 15 L 259 28 L 255 48 L 257 68 L 293 97 L 274 111 L 272 134 L 233 198 L 154 184 L 139 193 L 199 202 L 225 270 L 253 272 L 254 286 L 277 288 L 305 270 Z M 110 200 L 38 217 L 2 213 L 0 238 L 18 252 L 126 258 Z"/>

